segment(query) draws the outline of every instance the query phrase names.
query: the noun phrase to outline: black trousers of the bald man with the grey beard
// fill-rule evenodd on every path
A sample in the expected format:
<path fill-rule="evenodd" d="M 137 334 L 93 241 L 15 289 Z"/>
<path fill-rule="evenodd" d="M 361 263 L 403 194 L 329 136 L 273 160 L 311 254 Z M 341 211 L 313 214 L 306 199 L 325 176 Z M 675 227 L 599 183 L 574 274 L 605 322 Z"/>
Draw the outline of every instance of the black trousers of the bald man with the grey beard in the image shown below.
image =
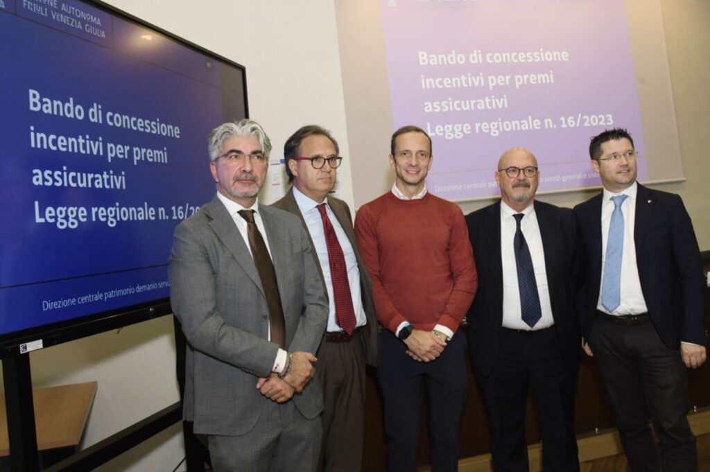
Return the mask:
<path fill-rule="evenodd" d="M 496 364 L 488 377 L 478 375 L 491 422 L 491 454 L 496 472 L 528 472 L 525 405 L 532 384 L 540 415 L 545 472 L 579 471 L 574 436 L 577 372 L 562 362 L 555 328 L 540 331 L 501 329 Z"/>

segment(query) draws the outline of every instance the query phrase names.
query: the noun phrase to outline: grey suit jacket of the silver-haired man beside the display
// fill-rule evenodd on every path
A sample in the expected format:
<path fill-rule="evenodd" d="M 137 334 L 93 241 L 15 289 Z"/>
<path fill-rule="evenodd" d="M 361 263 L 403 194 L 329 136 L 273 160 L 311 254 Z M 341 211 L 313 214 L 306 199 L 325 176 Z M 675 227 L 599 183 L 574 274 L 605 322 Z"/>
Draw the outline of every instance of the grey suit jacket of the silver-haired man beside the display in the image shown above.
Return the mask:
<path fill-rule="evenodd" d="M 315 353 L 328 302 L 300 222 L 259 206 L 283 305 L 288 351 Z M 185 419 L 201 434 L 239 435 L 253 429 L 263 405 L 256 389 L 268 377 L 278 346 L 268 341 L 268 307 L 249 248 L 215 196 L 175 229 L 170 253 L 170 302 L 187 338 Z M 293 400 L 304 417 L 323 408 L 309 383 Z"/>

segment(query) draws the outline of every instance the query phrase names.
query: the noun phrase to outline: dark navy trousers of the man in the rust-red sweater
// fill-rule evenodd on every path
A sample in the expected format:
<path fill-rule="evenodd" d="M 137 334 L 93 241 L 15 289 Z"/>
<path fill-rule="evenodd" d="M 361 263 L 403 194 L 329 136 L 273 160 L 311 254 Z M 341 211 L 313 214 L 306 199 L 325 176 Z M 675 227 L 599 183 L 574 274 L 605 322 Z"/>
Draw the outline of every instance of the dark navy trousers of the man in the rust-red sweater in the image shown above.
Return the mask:
<path fill-rule="evenodd" d="M 380 335 L 377 370 L 382 392 L 388 472 L 415 472 L 422 429 L 422 393 L 429 400 L 432 471 L 457 471 L 459 429 L 466 404 L 466 336 L 459 329 L 439 358 L 410 358 L 391 331 Z"/>

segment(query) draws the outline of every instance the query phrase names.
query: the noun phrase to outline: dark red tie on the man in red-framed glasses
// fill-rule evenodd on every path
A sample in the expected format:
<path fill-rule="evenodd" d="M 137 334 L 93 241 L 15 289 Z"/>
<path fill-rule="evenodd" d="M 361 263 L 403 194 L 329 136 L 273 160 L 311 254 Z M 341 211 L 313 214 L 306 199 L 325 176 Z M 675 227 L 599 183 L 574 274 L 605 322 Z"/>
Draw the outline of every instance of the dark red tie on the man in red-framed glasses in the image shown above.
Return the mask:
<path fill-rule="evenodd" d="M 333 298 L 335 299 L 335 321 L 343 331 L 352 334 L 355 329 L 355 309 L 350 294 L 348 282 L 348 269 L 345 265 L 345 256 L 335 236 L 333 225 L 330 224 L 325 204 L 318 205 L 320 217 L 323 219 L 325 232 L 325 245 L 328 248 L 328 265 L 330 265 L 330 280 L 333 284 Z"/>

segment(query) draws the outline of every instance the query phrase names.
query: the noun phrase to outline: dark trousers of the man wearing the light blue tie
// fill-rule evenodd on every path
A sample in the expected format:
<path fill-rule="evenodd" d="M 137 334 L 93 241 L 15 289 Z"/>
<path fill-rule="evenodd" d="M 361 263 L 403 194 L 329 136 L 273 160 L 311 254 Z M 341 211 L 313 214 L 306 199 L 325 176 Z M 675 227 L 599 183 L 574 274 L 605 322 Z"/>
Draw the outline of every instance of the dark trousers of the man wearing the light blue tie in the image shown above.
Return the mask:
<path fill-rule="evenodd" d="M 659 470 L 650 416 L 662 470 L 696 471 L 695 437 L 686 417 L 687 372 L 679 349 L 663 344 L 650 319 L 623 326 L 597 317 L 589 338 L 631 470 Z"/>

